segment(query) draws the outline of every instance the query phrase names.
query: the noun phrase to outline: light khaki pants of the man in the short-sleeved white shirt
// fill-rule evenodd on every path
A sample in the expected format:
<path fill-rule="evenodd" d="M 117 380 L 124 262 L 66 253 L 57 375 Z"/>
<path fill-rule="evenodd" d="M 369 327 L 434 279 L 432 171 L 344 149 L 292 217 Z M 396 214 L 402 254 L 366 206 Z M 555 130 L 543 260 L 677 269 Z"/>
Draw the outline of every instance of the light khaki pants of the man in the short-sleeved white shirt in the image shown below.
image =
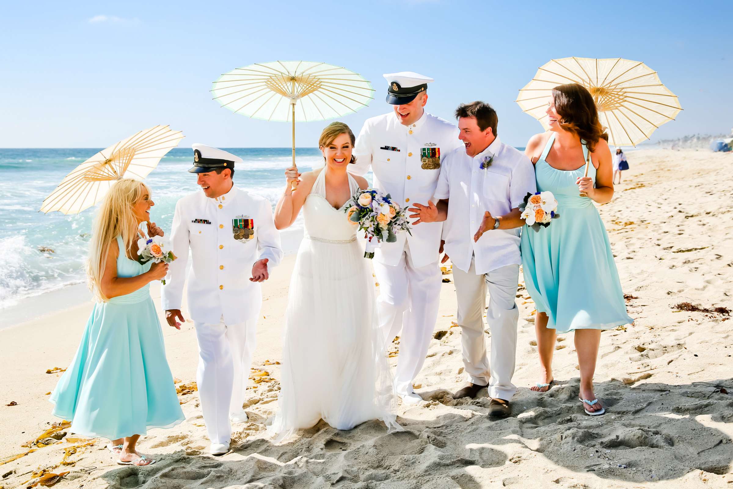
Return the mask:
<path fill-rule="evenodd" d="M 519 265 L 507 265 L 476 275 L 474 260 L 468 273 L 453 268 L 458 302 L 458 326 L 463 343 L 463 365 L 468 378 L 479 386 L 489 386 L 489 395 L 511 400 L 517 391 L 512 383 L 517 356 L 515 304 Z M 486 292 L 489 308 L 486 309 Z M 491 364 L 486 357 L 483 313 L 491 331 Z"/>

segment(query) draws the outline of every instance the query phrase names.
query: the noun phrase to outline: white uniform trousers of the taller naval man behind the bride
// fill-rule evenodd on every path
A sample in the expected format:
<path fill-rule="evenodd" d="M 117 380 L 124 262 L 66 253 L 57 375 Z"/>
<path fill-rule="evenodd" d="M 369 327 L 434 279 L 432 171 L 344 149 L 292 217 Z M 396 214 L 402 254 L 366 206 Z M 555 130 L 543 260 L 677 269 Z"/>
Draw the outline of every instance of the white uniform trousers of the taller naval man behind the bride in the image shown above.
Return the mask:
<path fill-rule="evenodd" d="M 410 394 L 413 380 L 425 363 L 432 330 L 438 320 L 441 270 L 438 260 L 416 268 L 406 241 L 397 265 L 384 265 L 375 260 L 374 269 L 380 290 L 377 315 L 386 348 L 402 329 L 394 388 L 399 395 Z"/>

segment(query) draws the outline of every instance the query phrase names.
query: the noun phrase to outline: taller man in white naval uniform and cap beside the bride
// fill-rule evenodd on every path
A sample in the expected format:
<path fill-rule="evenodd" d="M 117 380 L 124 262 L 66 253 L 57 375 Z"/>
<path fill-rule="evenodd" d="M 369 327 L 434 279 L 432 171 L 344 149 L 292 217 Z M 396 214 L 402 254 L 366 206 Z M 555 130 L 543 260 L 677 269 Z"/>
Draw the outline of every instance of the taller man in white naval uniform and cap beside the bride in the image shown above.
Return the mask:
<path fill-rule="evenodd" d="M 354 147 L 356 164 L 349 171 L 364 175 L 371 167 L 375 188 L 402 207 L 427 202 L 438 185 L 441 159 L 461 145 L 458 129 L 424 110 L 432 78 L 410 71 L 384 78 L 387 103 L 394 110 L 364 122 Z M 394 387 L 406 404 L 422 401 L 413 392 L 413 380 L 438 319 L 441 229 L 439 222 L 414 227 L 411 236 L 399 233 L 396 243 L 382 243 L 375 252 L 377 312 L 386 345 L 402 329 Z"/>

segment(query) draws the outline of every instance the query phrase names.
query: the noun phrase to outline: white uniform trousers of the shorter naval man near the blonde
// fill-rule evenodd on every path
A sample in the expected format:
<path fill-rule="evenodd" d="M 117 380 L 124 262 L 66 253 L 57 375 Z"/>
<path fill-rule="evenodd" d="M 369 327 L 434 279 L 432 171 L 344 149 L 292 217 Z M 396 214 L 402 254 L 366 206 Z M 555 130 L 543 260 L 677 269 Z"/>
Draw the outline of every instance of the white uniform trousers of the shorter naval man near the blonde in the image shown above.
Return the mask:
<path fill-rule="evenodd" d="M 199 341 L 196 383 L 204 422 L 213 444 L 229 443 L 229 413 L 242 411 L 244 393 L 257 341 L 257 319 L 236 324 L 194 321 Z"/>

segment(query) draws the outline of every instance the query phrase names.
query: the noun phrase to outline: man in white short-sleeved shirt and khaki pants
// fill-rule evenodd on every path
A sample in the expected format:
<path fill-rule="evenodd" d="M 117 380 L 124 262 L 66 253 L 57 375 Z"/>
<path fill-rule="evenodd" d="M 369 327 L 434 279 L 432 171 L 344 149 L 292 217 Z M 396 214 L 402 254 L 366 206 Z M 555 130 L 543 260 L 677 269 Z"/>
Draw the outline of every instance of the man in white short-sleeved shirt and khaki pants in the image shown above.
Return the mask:
<path fill-rule="evenodd" d="M 509 400 L 517 391 L 512 383 L 519 320 L 515 297 L 524 224 L 518 207 L 536 191 L 534 168 L 522 152 L 498 139 L 498 117 L 489 104 L 461 104 L 455 115 L 465 148 L 443 161 L 435 189 L 441 201 L 410 210 L 419 223 L 446 221 L 444 250 L 454 265 L 463 364 L 470 380 L 454 397 L 476 397 L 488 386 L 490 416 L 504 417 L 511 414 Z M 487 291 L 490 363 L 482 318 Z"/>

